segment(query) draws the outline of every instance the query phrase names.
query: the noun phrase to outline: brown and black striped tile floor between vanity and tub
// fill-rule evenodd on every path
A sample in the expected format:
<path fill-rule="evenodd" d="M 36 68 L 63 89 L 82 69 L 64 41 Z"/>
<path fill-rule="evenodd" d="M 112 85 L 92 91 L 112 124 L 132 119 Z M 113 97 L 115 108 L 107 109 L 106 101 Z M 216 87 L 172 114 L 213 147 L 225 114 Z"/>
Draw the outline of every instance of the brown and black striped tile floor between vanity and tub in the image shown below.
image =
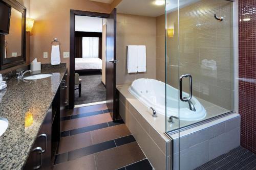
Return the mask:
<path fill-rule="evenodd" d="M 54 169 L 153 169 L 123 120 L 113 122 L 105 104 L 68 111 L 61 124 Z"/>

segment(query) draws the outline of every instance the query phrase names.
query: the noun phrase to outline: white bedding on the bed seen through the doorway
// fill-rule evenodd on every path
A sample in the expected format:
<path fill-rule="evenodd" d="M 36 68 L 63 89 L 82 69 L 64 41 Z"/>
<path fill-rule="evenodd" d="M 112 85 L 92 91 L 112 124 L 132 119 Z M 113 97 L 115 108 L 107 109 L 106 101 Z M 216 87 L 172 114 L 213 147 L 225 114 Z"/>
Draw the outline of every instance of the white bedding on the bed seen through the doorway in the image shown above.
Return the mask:
<path fill-rule="evenodd" d="M 76 58 L 75 70 L 102 69 L 102 60 L 99 58 Z"/>

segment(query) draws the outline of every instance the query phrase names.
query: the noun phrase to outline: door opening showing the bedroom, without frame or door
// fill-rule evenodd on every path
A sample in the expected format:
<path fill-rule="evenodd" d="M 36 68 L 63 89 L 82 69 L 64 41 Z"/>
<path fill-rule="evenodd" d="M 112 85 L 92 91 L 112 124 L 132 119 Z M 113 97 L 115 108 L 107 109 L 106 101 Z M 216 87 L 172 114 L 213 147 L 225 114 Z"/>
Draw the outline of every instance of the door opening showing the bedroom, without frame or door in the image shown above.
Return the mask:
<path fill-rule="evenodd" d="M 75 106 L 106 101 L 105 18 L 75 16 Z"/>

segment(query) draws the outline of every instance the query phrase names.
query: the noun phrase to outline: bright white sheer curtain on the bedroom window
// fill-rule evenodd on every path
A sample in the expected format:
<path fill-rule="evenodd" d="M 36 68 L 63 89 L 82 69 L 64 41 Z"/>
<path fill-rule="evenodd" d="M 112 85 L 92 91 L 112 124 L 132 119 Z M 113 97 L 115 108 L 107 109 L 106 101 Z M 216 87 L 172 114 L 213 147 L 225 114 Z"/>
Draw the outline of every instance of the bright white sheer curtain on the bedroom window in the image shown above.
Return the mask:
<path fill-rule="evenodd" d="M 99 38 L 82 37 L 82 58 L 99 57 Z"/>

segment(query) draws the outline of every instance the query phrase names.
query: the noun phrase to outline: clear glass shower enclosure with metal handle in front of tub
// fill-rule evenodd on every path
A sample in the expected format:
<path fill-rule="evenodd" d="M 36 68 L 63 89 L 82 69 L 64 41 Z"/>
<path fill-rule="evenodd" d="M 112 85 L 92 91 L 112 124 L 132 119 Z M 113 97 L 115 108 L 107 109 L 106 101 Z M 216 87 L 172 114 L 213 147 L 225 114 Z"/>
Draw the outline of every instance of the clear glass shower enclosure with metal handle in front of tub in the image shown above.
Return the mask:
<path fill-rule="evenodd" d="M 178 139 L 183 130 L 233 111 L 232 3 L 166 0 L 165 123 Z M 173 168 L 184 169 L 178 143 Z"/>

